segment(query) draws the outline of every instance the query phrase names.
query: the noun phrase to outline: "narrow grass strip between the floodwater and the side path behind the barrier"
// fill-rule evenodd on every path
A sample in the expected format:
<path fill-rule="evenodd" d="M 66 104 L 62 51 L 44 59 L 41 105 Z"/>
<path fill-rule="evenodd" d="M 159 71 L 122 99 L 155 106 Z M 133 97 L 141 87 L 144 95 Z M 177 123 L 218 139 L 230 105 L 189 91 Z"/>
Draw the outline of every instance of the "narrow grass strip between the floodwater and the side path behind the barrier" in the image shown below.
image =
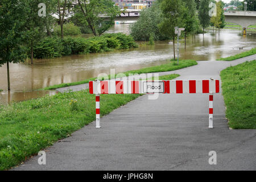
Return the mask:
<path fill-rule="evenodd" d="M 179 65 L 177 65 L 175 61 L 171 61 L 171 63 L 168 63 L 168 64 L 162 64 L 162 65 L 158 65 L 155 67 L 147 67 L 147 68 L 137 69 L 137 70 L 125 72 L 123 74 L 126 76 L 129 76 L 129 74 L 135 74 L 135 73 L 141 74 L 141 73 L 167 72 L 167 71 L 174 71 L 176 69 L 191 67 L 193 65 L 197 65 L 197 62 L 195 60 L 180 60 Z M 109 75 L 109 78 L 110 78 L 110 75 Z M 116 77 L 116 78 L 118 78 L 118 77 Z M 72 82 L 72 83 L 52 85 L 52 86 L 48 86 L 48 87 L 40 89 L 40 90 L 52 90 L 52 89 L 63 88 L 63 87 L 67 87 L 67 86 L 87 84 L 89 81 L 93 81 L 93 80 L 96 80 L 96 77 L 89 78 L 87 80 Z"/>

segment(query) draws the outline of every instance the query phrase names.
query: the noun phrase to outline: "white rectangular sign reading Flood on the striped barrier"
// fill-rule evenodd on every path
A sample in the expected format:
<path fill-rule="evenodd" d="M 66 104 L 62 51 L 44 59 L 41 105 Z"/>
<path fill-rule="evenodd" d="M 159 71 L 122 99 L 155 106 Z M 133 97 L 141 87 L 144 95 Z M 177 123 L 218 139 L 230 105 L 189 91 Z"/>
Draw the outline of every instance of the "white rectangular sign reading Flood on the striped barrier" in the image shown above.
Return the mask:
<path fill-rule="evenodd" d="M 144 93 L 164 93 L 163 81 L 144 81 L 143 82 Z"/>

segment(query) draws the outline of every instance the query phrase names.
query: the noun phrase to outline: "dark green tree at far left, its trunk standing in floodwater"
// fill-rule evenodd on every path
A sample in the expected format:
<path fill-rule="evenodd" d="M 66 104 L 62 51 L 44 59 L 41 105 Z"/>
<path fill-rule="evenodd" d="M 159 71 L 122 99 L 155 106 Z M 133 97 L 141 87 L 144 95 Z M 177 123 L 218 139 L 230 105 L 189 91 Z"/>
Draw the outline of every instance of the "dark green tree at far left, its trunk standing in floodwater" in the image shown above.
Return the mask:
<path fill-rule="evenodd" d="M 0 2 L 0 66 L 7 64 L 7 84 L 10 90 L 9 63 L 19 63 L 26 59 L 26 51 L 20 46 L 26 35 L 27 13 L 23 0 L 2 0 Z"/>

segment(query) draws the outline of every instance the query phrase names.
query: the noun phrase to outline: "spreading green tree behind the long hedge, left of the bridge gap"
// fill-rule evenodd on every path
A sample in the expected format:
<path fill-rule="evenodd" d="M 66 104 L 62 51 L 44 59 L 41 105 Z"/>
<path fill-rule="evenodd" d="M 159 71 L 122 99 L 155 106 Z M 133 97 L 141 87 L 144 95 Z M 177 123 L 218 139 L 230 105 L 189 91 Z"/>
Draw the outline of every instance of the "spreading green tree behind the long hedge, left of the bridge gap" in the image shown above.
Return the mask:
<path fill-rule="evenodd" d="M 113 24 L 114 18 L 120 13 L 119 7 L 115 6 L 112 0 L 78 0 L 78 11 L 84 17 L 82 21 L 86 21 L 95 36 L 100 36 L 107 31 Z M 100 17 L 104 15 L 106 18 Z"/>

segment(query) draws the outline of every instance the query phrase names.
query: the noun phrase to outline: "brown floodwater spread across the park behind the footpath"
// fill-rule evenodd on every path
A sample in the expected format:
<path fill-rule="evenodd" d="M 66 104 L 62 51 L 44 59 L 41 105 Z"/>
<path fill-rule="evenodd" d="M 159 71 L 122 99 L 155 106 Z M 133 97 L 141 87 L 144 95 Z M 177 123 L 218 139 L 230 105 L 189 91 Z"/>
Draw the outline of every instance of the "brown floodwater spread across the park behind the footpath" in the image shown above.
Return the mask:
<path fill-rule="evenodd" d="M 129 32 L 129 24 L 116 24 L 109 32 Z M 34 64 L 10 64 L 11 92 L 7 92 L 6 64 L 0 67 L 0 104 L 11 101 L 23 101 L 42 97 L 45 94 L 55 94 L 53 91 L 36 91 L 46 86 L 75 82 L 100 73 L 125 72 L 133 69 L 150 67 L 167 63 L 173 57 L 172 43 L 168 41 L 155 42 L 154 46 L 143 45 L 131 50 L 119 50 L 89 55 L 71 55 L 55 59 L 35 60 Z M 240 51 L 239 48 L 243 47 Z M 220 57 L 236 55 L 256 47 L 256 34 L 243 36 L 240 31 L 222 30 L 220 38 L 213 32 L 196 35 L 180 41 L 180 59 L 216 60 Z"/>

